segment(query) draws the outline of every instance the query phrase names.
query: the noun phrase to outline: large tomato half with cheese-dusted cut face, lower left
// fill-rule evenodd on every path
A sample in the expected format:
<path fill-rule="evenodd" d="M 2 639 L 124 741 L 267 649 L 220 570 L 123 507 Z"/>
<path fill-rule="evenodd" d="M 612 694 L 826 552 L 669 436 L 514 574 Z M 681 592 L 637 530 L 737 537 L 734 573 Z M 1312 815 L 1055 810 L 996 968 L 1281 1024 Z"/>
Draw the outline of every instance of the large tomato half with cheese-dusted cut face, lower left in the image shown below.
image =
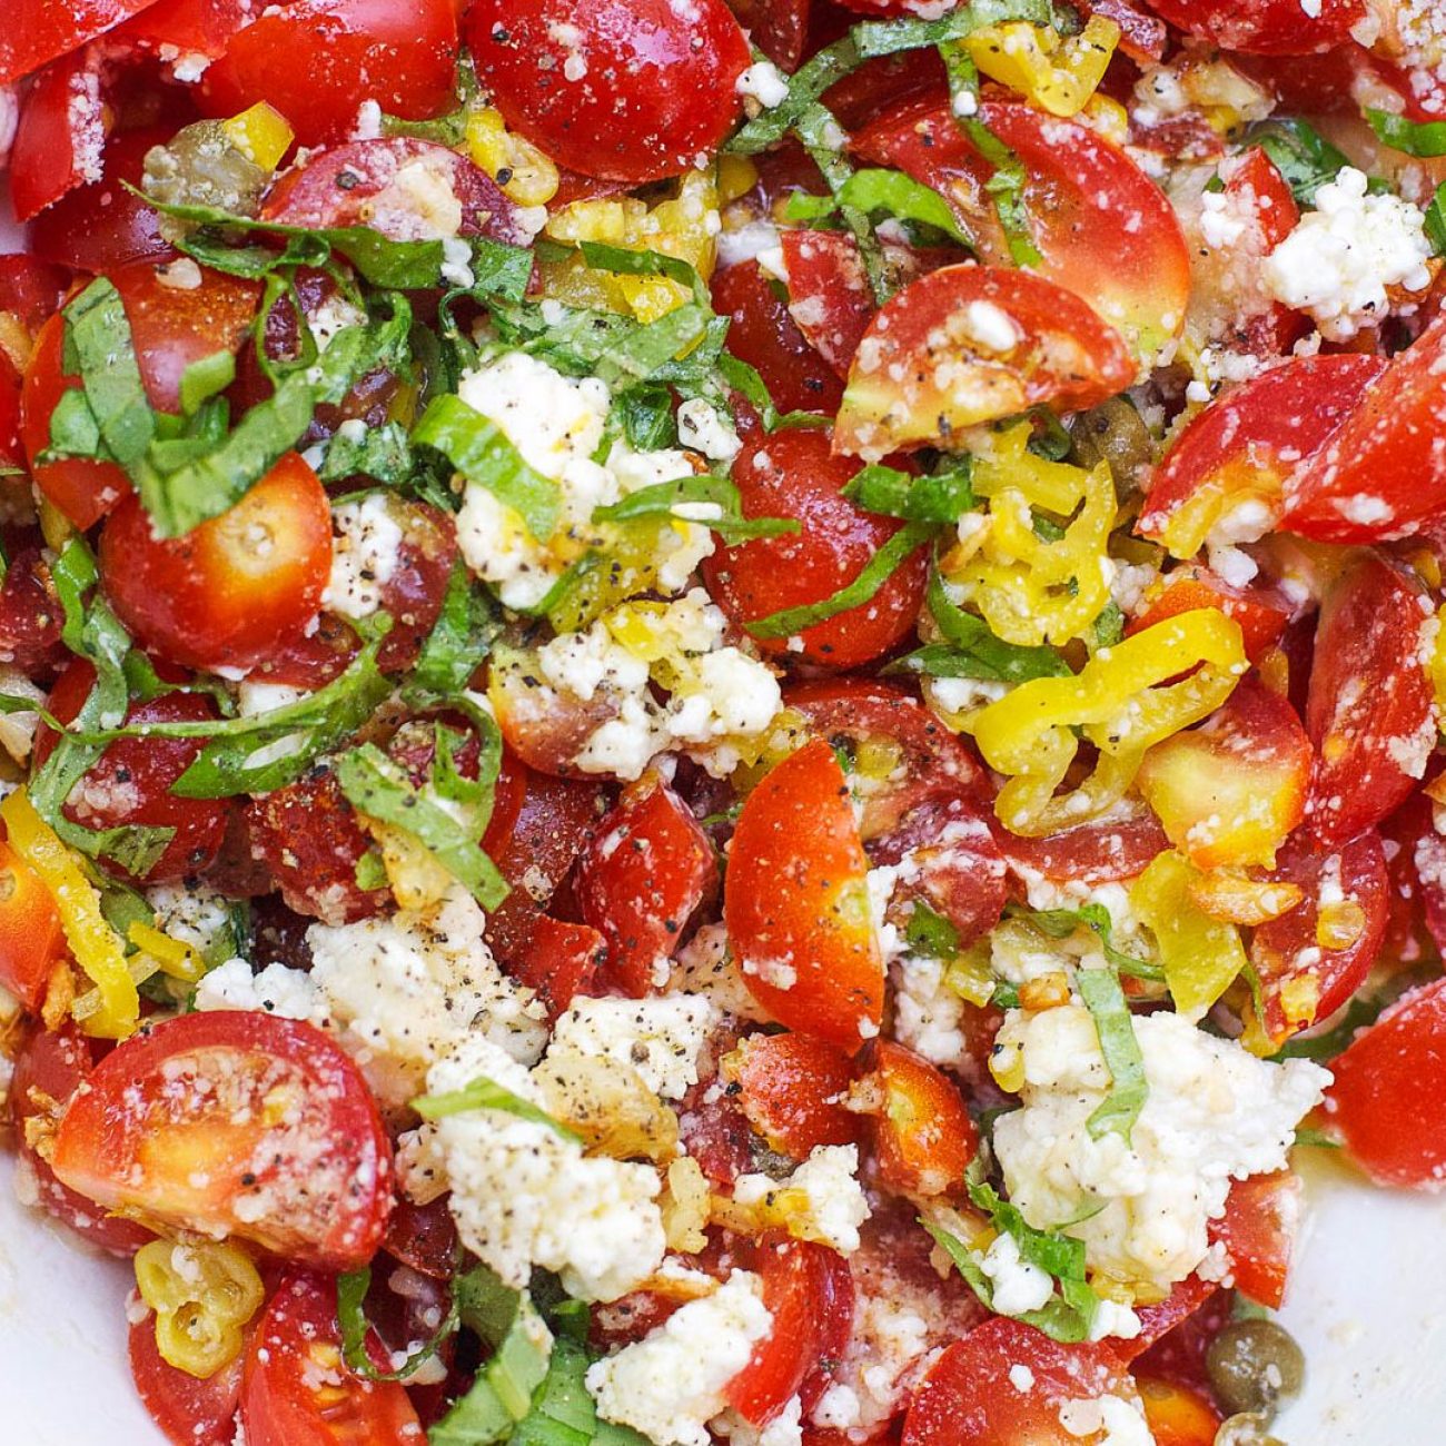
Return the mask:
<path fill-rule="evenodd" d="M 184 1014 L 85 1083 L 51 1164 L 97 1205 L 338 1270 L 380 1244 L 390 1144 L 362 1071 L 312 1025 Z"/>

